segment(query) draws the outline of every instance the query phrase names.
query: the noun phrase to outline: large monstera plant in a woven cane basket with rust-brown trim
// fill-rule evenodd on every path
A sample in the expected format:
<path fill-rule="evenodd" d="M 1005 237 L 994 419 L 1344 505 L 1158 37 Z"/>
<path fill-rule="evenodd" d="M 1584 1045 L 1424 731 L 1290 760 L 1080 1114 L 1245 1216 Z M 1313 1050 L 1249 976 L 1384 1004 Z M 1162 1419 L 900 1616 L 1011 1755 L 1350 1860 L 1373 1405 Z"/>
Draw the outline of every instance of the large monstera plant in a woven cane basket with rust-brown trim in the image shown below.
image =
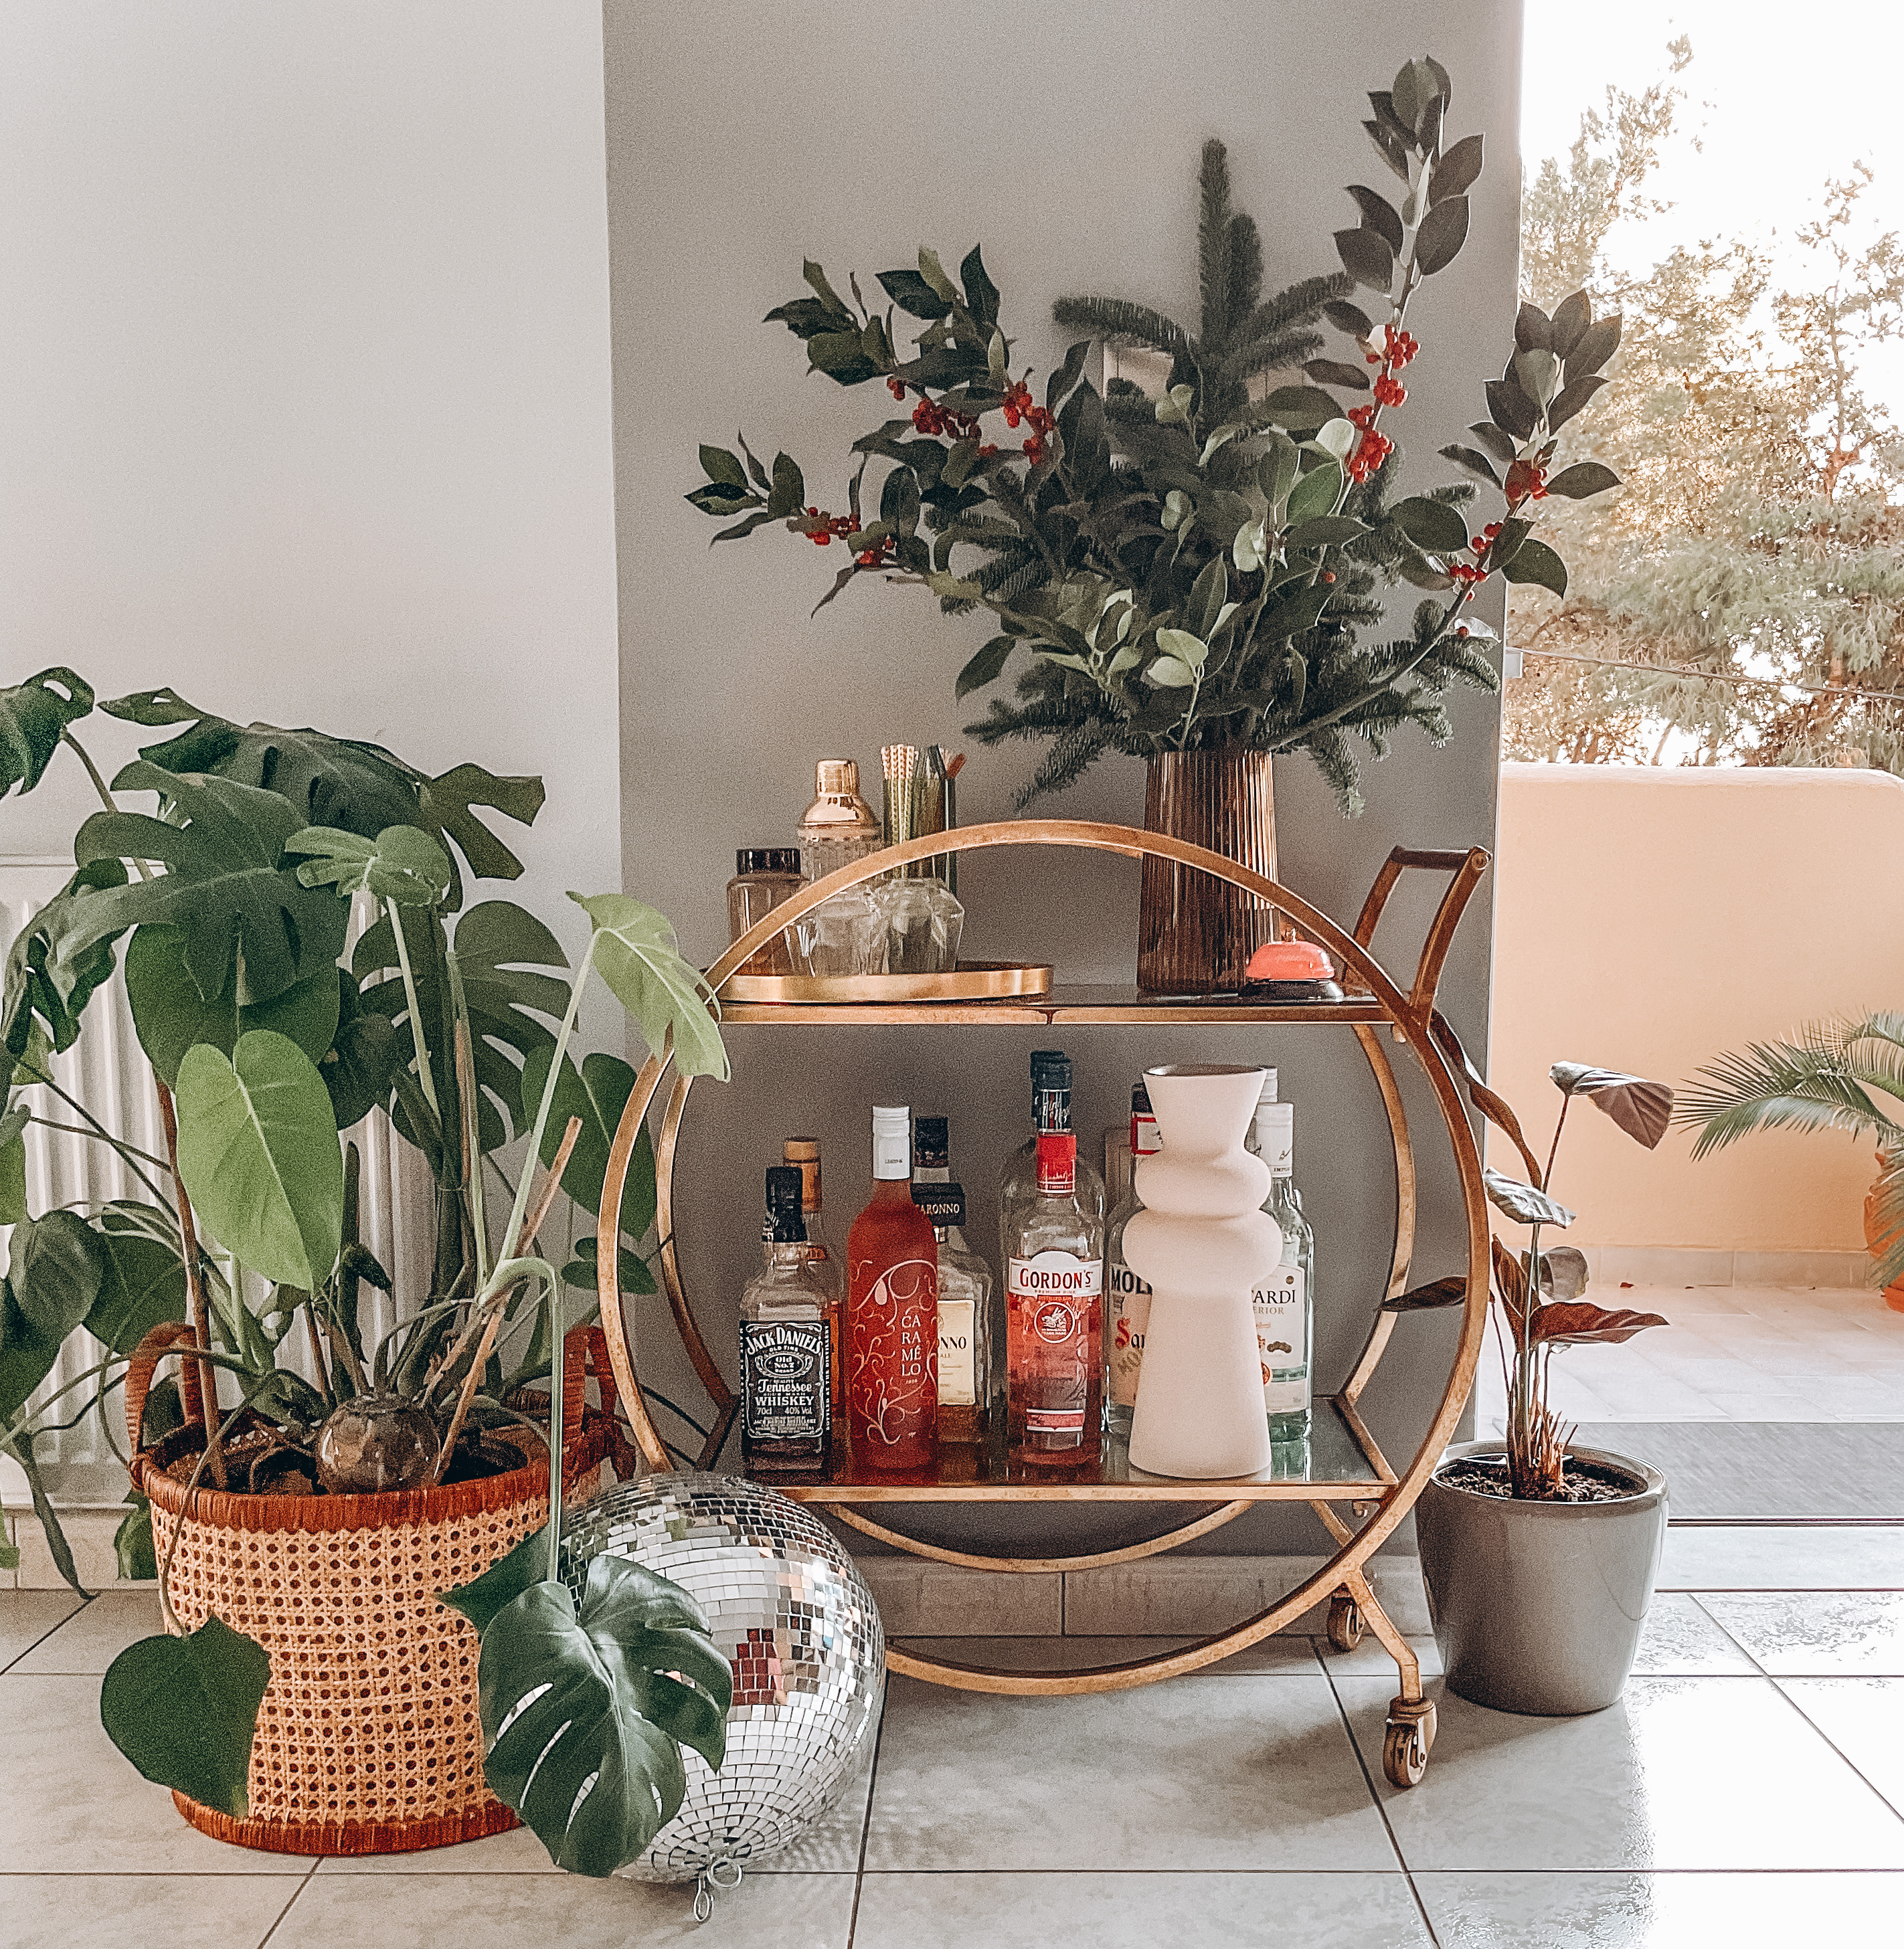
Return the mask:
<path fill-rule="evenodd" d="M 76 836 L 72 881 L 8 955 L 0 1039 L 16 1101 L 0 1185 L 16 1230 L 0 1446 L 27 1470 L 72 1579 L 35 1438 L 74 1397 L 97 1409 L 127 1386 L 150 1499 L 127 1549 L 148 1526 L 170 1629 L 107 1674 L 107 1731 L 187 1818 L 228 1840 L 388 1852 L 495 1832 L 520 1811 L 563 1865 L 606 1873 L 678 1805 L 676 1731 L 719 1764 L 727 1678 L 711 1647 L 690 1643 L 705 1639 L 692 1602 L 661 1579 L 612 1565 L 579 1612 L 561 1585 L 563 1462 L 598 1458 L 573 1442 L 579 1347 L 561 1284 L 592 1288 L 594 1267 L 583 1253 L 557 1273 L 536 1232 L 557 1183 L 596 1203 L 633 1086 L 626 1062 L 577 1070 L 569 1056 L 589 973 L 651 1047 L 672 1037 L 688 1072 L 725 1076 L 705 984 L 666 922 L 622 895 L 577 895 L 592 936 L 573 982 L 524 908 L 464 908 L 464 871 L 520 873 L 476 809 L 526 822 L 538 780 L 477 766 L 429 778 L 374 745 L 236 725 L 158 690 L 101 707 L 187 729 L 107 787 L 72 731 L 92 706 L 70 670 L 0 692 L 12 733 L 0 783 L 31 789 L 64 746 L 103 801 Z M 117 793 L 154 793 L 158 817 Z M 19 1146 L 43 1115 L 31 1091 L 58 1091 L 49 1054 L 84 1033 L 121 951 L 166 1156 L 142 1156 L 68 1099 L 148 1199 L 27 1212 Z M 437 1247 L 429 1292 L 370 1341 L 361 1292 L 392 1280 L 357 1238 L 345 1132 L 376 1109 L 431 1164 Z M 528 1138 L 514 1183 L 495 1156 L 513 1136 Z M 645 1154 L 622 1212 L 624 1284 L 639 1288 Z M 35 1390 L 74 1333 L 101 1355 L 49 1399 Z M 152 1388 L 170 1353 L 183 1386 Z M 522 1392 L 544 1374 L 546 1413 Z M 620 1647 L 614 1672 L 604 1645 Z M 592 1707 L 540 1774 L 514 1750 L 534 1713 L 513 1744 L 499 1737 L 536 1686 Z M 604 1740 L 626 1764 L 583 1813 L 575 1781 L 565 1795 L 559 1781 L 577 1764 L 585 1776 Z"/>

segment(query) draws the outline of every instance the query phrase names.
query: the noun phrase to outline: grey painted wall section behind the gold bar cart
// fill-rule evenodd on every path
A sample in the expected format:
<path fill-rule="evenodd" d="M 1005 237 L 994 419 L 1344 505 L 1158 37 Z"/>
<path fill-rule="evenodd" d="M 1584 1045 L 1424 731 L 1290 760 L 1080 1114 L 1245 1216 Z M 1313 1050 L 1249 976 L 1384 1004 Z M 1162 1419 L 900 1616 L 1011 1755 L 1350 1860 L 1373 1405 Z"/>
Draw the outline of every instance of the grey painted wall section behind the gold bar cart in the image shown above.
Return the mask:
<path fill-rule="evenodd" d="M 1452 72 L 1458 133 L 1487 134 L 1460 265 L 1417 300 L 1423 357 L 1397 437 L 1438 478 L 1434 446 L 1481 411 L 1481 382 L 1504 357 L 1514 312 L 1520 10 L 1512 0 L 1337 10 L 1183 0 L 1027 8 L 971 0 L 953 12 L 891 6 L 867 21 L 857 57 L 828 16 L 764 4 L 717 12 L 610 0 L 608 210 L 616 370 L 616 505 L 622 583 L 622 817 L 626 883 L 680 926 L 690 955 L 725 943 L 721 885 L 733 848 L 791 840 L 813 760 L 877 764 L 881 743 L 969 748 L 961 817 L 1009 815 L 1031 748 L 976 748 L 953 676 L 984 641 L 984 618 L 949 622 L 918 591 L 859 585 L 809 620 L 838 565 L 768 528 L 709 554 L 713 524 L 682 501 L 700 481 L 700 440 L 783 446 L 809 499 L 844 507 L 850 440 L 885 417 L 875 388 L 803 378 L 801 347 L 762 314 L 799 292 L 801 257 L 840 281 L 912 259 L 924 240 L 947 263 L 972 242 L 1004 292 L 1013 363 L 1062 357 L 1050 302 L 1111 290 L 1195 316 L 1197 152 L 1230 144 L 1239 207 L 1265 236 L 1269 283 L 1333 267 L 1329 232 L 1354 222 L 1343 183 L 1380 183 L 1360 133 L 1368 88 L 1401 58 L 1434 53 Z M 717 25 L 715 25 L 717 23 Z M 1407 606 L 1399 606 L 1407 614 Z M 1497 618 L 1499 620 L 1499 614 Z M 1466 694 L 1446 750 L 1421 739 L 1366 774 L 1368 811 L 1345 822 L 1308 760 L 1276 766 L 1282 877 L 1352 924 L 1388 850 L 1493 844 L 1497 709 Z M 1142 822 L 1142 768 L 1109 760 L 1047 801 L 1052 815 Z M 992 856 L 963 869 L 969 951 L 1037 955 L 1060 978 L 1134 969 L 1136 869 L 1078 854 Z M 1378 949 L 1413 965 L 1428 902 L 1397 900 Z M 1485 900 L 1444 980 L 1450 1015 L 1487 1045 Z M 865 1197 L 873 1099 L 953 1117 L 955 1169 L 974 1193 L 972 1236 L 996 1238 L 998 1162 L 1021 1136 L 1033 1031 L 817 1031 L 737 1027 L 735 1082 L 702 1086 L 682 1146 L 682 1259 L 711 1343 L 733 1362 L 739 1284 L 754 1263 L 760 1169 L 795 1128 L 826 1140 L 828 1212 L 844 1228 Z M 1341 1380 L 1380 1296 L 1393 1216 L 1386 1127 L 1343 1029 L 1222 1039 L 1191 1031 L 1074 1031 L 1078 1123 L 1097 1132 L 1128 1101 L 1144 1064 L 1204 1056 L 1276 1062 L 1298 1105 L 1298 1183 L 1319 1255 L 1319 1380 Z M 1428 1222 L 1417 1265 L 1460 1255 L 1452 1171 L 1432 1105 L 1411 1089 L 1423 1130 Z M 1440 1152 L 1440 1156 L 1436 1156 Z M 1372 1419 L 1391 1452 L 1413 1452 L 1440 1399 L 1452 1327 L 1403 1323 Z M 641 1323 L 657 1374 L 680 1380 L 661 1314 Z M 690 1382 L 692 1386 L 692 1382 Z M 1033 1509 L 920 1514 L 939 1536 L 1041 1549 L 1136 1534 L 1109 1509 L 1062 1532 Z M 1304 1510 L 1259 1510 L 1204 1548 L 1312 1549 Z"/>

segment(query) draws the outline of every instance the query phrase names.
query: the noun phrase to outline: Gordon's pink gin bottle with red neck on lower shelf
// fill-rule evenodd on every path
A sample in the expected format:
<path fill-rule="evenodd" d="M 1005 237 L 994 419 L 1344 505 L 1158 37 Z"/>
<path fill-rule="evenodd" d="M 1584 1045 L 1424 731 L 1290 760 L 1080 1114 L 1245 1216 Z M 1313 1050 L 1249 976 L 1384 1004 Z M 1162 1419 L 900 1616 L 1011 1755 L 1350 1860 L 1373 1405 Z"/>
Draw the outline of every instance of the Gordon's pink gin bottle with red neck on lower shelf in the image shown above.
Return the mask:
<path fill-rule="evenodd" d="M 1035 1173 L 1006 1234 L 1006 1436 L 1019 1462 L 1078 1468 L 1103 1433 L 1103 1179 L 1078 1160 L 1072 1066 L 1039 1076 Z"/>

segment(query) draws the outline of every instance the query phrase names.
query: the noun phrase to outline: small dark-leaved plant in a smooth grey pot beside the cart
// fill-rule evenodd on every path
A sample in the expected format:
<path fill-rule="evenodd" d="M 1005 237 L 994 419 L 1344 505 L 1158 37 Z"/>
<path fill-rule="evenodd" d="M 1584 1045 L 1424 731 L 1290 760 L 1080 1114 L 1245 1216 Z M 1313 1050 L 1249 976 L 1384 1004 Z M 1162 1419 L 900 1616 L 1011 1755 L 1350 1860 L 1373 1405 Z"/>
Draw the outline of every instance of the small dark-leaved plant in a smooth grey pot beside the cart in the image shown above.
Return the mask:
<path fill-rule="evenodd" d="M 1528 1169 L 1526 1179 L 1485 1173 L 1495 1208 L 1528 1228 L 1526 1251 L 1508 1251 L 1499 1238 L 1493 1247 L 1506 1440 L 1448 1450 L 1415 1505 L 1415 1534 L 1448 1690 L 1501 1711 L 1582 1713 L 1612 1705 L 1633 1668 L 1666 1538 L 1666 1481 L 1645 1462 L 1573 1444 L 1573 1429 L 1549 1405 L 1551 1362 L 1567 1347 L 1614 1345 L 1666 1321 L 1594 1306 L 1584 1298 L 1586 1255 L 1542 1245 L 1542 1232 L 1575 1218 L 1551 1195 L 1575 1097 L 1653 1150 L 1666 1134 L 1672 1091 L 1580 1062 L 1557 1062 L 1549 1076 L 1561 1111 L 1545 1169 L 1514 1113 L 1485 1088 L 1473 1091 Z M 1466 1279 L 1446 1279 L 1393 1306 L 1464 1298 Z"/>

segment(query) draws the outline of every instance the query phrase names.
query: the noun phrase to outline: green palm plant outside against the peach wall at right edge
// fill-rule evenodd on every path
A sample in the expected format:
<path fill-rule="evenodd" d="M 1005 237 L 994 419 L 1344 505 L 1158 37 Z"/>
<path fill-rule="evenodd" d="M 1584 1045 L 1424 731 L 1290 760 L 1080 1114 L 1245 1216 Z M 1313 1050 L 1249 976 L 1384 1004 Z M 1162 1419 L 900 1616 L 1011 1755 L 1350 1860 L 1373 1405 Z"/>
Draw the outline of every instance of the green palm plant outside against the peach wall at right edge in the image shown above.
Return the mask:
<path fill-rule="evenodd" d="M 1904 1013 L 1867 1010 L 1801 1027 L 1791 1041 L 1750 1043 L 1705 1064 L 1680 1091 L 1676 1123 L 1695 1128 L 1694 1158 L 1752 1130 L 1847 1130 L 1877 1144 L 1871 1280 L 1904 1279 Z"/>

